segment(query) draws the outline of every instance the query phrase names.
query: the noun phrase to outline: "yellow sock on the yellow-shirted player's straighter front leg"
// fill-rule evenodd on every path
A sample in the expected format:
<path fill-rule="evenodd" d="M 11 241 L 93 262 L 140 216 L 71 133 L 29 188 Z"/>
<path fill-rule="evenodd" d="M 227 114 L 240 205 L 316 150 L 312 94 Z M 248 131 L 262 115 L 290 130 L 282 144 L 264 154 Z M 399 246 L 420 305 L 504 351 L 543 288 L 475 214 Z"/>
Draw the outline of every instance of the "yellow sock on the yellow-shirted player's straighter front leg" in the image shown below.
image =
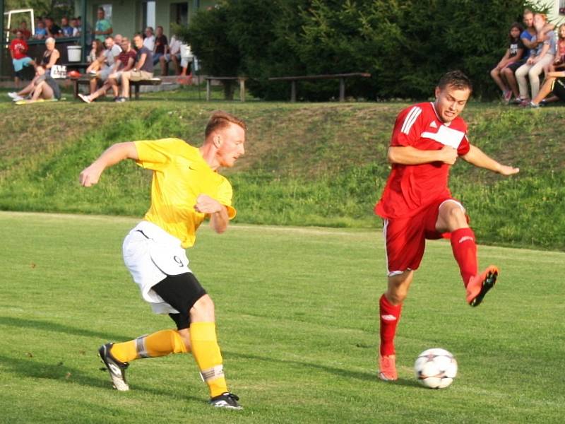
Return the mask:
<path fill-rule="evenodd" d="M 222 365 L 222 354 L 216 338 L 214 322 L 194 322 L 190 326 L 192 355 L 196 359 L 202 378 L 208 384 L 210 397 L 227 391 Z"/>

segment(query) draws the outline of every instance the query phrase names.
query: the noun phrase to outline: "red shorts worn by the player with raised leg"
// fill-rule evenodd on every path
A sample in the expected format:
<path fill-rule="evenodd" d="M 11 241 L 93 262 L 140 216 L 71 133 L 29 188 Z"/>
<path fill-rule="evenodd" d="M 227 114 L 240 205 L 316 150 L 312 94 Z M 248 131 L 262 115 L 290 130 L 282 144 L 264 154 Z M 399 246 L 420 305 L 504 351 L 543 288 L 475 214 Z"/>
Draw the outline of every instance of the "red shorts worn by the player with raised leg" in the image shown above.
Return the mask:
<path fill-rule="evenodd" d="M 415 216 L 383 219 L 386 266 L 389 277 L 407 270 L 418 269 L 424 256 L 426 239 L 436 240 L 444 237 L 441 232 L 436 230 L 436 222 L 439 215 L 439 206 L 446 201 L 455 201 L 463 208 L 455 199 L 446 198 L 434 201 Z"/>

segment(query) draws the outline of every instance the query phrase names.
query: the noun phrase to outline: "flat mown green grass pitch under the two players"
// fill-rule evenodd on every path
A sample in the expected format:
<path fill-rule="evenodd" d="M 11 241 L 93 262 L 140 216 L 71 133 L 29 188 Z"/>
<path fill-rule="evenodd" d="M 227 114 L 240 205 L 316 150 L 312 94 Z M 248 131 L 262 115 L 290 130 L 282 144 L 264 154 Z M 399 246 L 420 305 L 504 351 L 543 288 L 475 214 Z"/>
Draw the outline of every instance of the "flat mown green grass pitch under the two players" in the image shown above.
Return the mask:
<path fill-rule="evenodd" d="M 400 321 L 400 379 L 376 379 L 376 230 L 202 228 L 191 268 L 215 300 L 230 388 L 216 411 L 190 355 L 138 360 L 111 389 L 96 351 L 170 327 L 121 261 L 136 219 L 0 212 L 1 423 L 562 423 L 565 254 L 480 247 L 501 268 L 477 309 L 446 242 L 430 242 Z M 420 387 L 412 364 L 442 347 L 451 387 Z"/>

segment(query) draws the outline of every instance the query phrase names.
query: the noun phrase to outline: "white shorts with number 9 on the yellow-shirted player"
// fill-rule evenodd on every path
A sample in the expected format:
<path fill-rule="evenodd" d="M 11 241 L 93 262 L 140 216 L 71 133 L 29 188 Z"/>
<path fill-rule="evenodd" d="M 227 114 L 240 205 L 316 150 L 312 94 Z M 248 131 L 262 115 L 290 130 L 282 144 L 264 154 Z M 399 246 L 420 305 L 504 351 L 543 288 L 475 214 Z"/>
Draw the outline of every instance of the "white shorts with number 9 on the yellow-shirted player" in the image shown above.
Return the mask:
<path fill-rule="evenodd" d="M 141 221 L 126 235 L 122 252 L 124 264 L 139 286 L 141 297 L 151 305 L 153 312 L 178 314 L 179 311 L 151 288 L 167 276 L 192 272 L 181 241 L 158 225 Z"/>

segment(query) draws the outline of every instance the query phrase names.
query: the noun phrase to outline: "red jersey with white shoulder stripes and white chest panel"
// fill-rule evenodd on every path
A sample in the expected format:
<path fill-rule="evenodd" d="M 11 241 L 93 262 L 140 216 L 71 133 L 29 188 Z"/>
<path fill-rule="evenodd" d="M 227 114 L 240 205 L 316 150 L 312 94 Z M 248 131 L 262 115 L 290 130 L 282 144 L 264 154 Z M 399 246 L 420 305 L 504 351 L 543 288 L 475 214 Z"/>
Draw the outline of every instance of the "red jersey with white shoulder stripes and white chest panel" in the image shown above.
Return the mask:
<path fill-rule="evenodd" d="M 418 103 L 398 114 L 391 146 L 412 146 L 424 151 L 451 146 L 458 155 L 465 155 L 470 149 L 467 124 L 461 117 L 444 124 L 432 102 Z M 447 185 L 450 167 L 443 162 L 394 163 L 375 213 L 383 218 L 406 218 L 437 199 L 451 197 Z"/>

